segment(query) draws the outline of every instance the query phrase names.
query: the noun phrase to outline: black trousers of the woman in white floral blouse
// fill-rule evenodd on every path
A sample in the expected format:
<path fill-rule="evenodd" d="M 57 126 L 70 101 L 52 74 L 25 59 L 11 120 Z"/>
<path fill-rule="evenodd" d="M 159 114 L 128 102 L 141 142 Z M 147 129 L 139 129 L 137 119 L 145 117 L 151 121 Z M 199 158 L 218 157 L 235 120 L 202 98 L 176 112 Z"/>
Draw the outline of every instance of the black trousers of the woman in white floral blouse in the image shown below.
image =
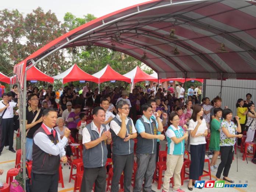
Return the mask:
<path fill-rule="evenodd" d="M 223 171 L 223 176 L 228 177 L 228 172 L 231 167 L 231 163 L 233 161 L 233 156 L 234 156 L 234 151 L 233 151 L 233 146 L 221 146 L 220 147 L 220 164 L 218 166 L 218 170 L 216 173 L 216 177 L 220 178 L 220 175 Z"/>

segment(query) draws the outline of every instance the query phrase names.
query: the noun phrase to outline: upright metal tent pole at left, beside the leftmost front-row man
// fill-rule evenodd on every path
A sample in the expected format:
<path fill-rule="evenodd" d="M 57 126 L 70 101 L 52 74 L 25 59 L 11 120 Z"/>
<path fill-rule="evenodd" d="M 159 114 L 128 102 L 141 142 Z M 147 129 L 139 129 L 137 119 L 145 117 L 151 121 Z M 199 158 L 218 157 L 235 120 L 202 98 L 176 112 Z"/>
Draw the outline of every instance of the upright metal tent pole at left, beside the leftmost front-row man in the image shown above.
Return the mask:
<path fill-rule="evenodd" d="M 26 191 L 26 70 L 23 82 L 22 96 L 22 131 L 21 131 L 21 147 L 22 147 L 22 175 L 24 179 L 24 191 Z"/>

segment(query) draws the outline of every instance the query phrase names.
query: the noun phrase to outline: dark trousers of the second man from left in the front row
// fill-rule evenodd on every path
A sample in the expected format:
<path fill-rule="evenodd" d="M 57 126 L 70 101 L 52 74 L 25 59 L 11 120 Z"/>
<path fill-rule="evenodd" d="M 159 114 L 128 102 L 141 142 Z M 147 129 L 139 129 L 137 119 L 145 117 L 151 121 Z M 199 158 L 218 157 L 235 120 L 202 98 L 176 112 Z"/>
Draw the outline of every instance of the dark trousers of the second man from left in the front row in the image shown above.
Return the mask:
<path fill-rule="evenodd" d="M 83 179 L 81 185 L 82 192 L 91 192 L 93 184 L 95 183 L 95 192 L 106 191 L 106 168 L 84 168 Z"/>

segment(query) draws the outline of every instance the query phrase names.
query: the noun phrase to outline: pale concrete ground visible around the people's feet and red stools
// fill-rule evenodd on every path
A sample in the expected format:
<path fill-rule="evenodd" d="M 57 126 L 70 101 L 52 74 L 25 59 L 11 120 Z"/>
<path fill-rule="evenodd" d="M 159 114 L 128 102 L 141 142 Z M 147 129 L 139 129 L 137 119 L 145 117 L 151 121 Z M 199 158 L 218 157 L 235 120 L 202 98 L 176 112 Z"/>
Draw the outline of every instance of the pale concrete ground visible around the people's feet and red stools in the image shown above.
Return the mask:
<path fill-rule="evenodd" d="M 164 143 L 163 143 L 164 144 Z M 15 146 L 15 139 L 14 139 Z M 162 145 L 165 147 L 165 145 Z M 163 149 L 164 150 L 164 149 Z M 11 153 L 4 148 L 1 156 L 0 156 L 0 169 L 4 169 L 3 175 L 0 175 L 0 182 L 6 182 L 6 173 L 10 168 L 14 168 L 15 165 L 15 157 L 16 153 Z M 242 153 L 238 152 L 238 172 L 237 172 L 237 160 L 235 155 L 235 160 L 233 161 L 230 169 L 230 173 L 228 175 L 229 178 L 235 181 L 235 184 L 248 184 L 246 188 L 203 188 L 196 189 L 193 188 L 193 191 L 203 192 L 223 192 L 223 191 L 241 191 L 241 192 L 255 192 L 256 191 L 256 165 L 250 162 L 251 158 L 248 159 L 248 164 L 245 161 L 242 161 Z M 220 163 L 220 159 L 218 159 L 218 163 Z M 205 170 L 208 170 L 207 165 L 205 164 Z M 70 170 L 68 166 L 63 166 L 63 178 L 64 178 L 64 188 L 61 188 L 61 184 L 59 184 L 58 191 L 59 192 L 71 192 L 74 187 L 74 180 L 68 182 L 68 178 L 70 175 Z M 211 173 L 211 179 L 215 180 L 216 172 Z M 209 180 L 209 177 L 204 177 L 204 180 Z M 241 181 L 241 183 L 239 183 Z M 184 181 L 184 185 L 181 186 L 181 189 L 188 192 L 188 180 Z M 161 192 L 161 189 L 157 189 L 156 182 L 152 184 L 152 189 L 156 192 Z M 132 191 L 132 189 L 131 189 Z M 172 191 L 172 188 L 170 188 Z"/>

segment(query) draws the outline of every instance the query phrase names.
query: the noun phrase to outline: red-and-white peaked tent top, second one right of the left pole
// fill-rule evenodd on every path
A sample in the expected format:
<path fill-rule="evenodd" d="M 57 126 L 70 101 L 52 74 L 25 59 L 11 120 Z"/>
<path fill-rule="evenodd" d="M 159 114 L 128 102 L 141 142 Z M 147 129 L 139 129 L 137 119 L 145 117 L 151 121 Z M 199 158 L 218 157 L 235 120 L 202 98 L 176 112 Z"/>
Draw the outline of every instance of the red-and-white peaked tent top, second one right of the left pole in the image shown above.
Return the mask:
<path fill-rule="evenodd" d="M 60 80 L 63 84 L 68 83 L 71 81 L 92 81 L 98 83 L 99 79 L 93 77 L 92 75 L 84 72 L 77 66 L 77 64 L 72 65 L 68 70 L 64 71 L 63 73 L 56 75 L 53 77 L 54 80 Z"/>

